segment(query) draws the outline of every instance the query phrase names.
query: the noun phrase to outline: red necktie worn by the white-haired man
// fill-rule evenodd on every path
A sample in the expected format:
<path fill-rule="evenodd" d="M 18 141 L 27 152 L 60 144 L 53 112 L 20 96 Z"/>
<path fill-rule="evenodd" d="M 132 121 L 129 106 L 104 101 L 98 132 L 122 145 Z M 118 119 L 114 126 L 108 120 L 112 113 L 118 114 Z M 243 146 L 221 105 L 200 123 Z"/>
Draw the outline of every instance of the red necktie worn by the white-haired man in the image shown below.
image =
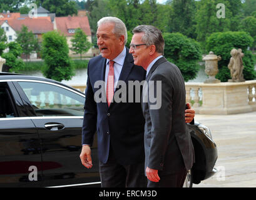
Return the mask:
<path fill-rule="evenodd" d="M 114 96 L 114 63 L 115 61 L 109 61 L 110 71 L 108 72 L 108 82 L 106 84 L 106 101 L 108 102 L 108 107 Z"/>

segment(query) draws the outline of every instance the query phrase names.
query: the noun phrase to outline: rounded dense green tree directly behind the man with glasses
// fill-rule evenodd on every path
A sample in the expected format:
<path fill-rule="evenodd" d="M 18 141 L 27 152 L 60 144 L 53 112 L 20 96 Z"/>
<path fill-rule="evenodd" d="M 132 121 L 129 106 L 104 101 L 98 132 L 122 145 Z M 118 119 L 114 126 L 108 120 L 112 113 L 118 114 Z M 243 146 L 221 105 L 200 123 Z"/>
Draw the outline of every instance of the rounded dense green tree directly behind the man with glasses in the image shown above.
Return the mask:
<path fill-rule="evenodd" d="M 198 61 L 202 58 L 198 42 L 179 32 L 164 33 L 163 37 L 168 61 L 180 68 L 185 81 L 196 78 L 199 71 Z"/>

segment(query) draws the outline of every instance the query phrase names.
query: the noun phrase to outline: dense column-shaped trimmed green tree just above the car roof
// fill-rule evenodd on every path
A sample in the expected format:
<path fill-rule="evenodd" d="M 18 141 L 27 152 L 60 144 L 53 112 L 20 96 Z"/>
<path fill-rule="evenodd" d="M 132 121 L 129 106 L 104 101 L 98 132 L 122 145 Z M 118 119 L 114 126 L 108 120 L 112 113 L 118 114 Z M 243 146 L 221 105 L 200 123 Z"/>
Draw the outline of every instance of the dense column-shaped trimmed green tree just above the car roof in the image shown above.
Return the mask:
<path fill-rule="evenodd" d="M 44 76 L 56 81 L 70 80 L 74 75 L 73 63 L 68 56 L 66 37 L 57 31 L 43 34 L 42 57 L 46 64 Z"/>

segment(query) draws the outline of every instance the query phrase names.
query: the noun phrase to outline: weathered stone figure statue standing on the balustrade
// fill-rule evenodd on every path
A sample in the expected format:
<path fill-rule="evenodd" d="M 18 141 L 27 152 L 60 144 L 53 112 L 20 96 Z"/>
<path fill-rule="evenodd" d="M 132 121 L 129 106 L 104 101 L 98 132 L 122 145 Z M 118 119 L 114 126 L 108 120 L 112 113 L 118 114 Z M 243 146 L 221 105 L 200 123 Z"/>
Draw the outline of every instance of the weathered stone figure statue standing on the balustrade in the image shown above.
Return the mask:
<path fill-rule="evenodd" d="M 228 79 L 228 82 L 243 82 L 243 56 L 242 49 L 232 49 L 230 52 L 232 56 L 228 64 L 230 69 L 230 76 L 232 79 Z"/>

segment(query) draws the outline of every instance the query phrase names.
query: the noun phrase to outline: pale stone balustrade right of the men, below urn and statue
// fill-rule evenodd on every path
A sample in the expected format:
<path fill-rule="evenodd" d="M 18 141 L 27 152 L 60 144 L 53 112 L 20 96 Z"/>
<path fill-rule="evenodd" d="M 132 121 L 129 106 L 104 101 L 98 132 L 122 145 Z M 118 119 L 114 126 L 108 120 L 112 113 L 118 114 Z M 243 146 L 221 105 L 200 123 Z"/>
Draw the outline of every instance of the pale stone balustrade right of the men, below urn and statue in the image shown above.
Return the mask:
<path fill-rule="evenodd" d="M 256 81 L 185 85 L 186 101 L 193 104 L 196 113 L 235 114 L 256 111 Z"/>

